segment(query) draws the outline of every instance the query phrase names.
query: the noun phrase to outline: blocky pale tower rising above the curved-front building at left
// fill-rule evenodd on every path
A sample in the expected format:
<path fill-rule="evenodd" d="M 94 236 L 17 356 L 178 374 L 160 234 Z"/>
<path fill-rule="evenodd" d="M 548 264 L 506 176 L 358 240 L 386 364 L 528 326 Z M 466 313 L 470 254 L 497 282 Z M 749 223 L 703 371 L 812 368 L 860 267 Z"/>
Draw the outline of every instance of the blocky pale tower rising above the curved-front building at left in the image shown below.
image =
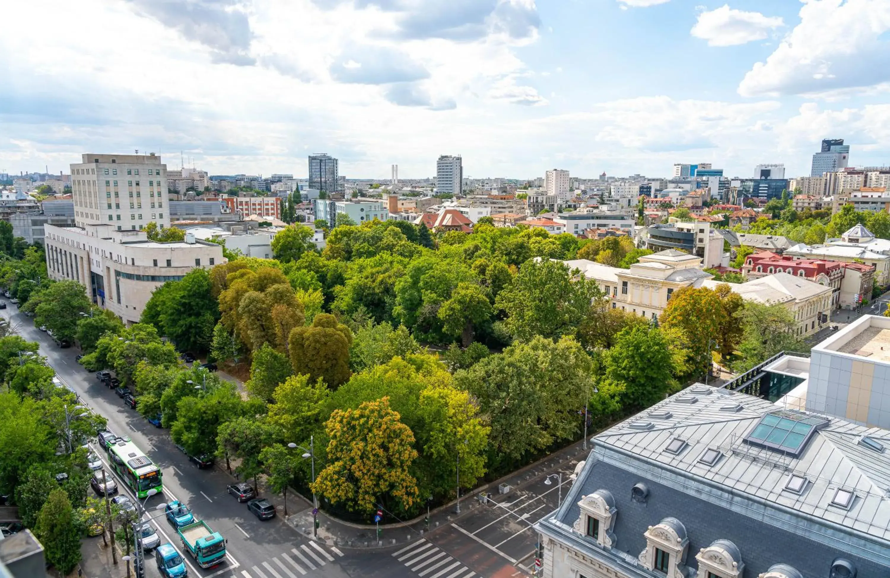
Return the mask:
<path fill-rule="evenodd" d="M 170 224 L 166 165 L 148 155 L 85 153 L 71 165 L 71 197 L 78 227 L 110 225 L 113 229 L 142 229 L 150 221 Z"/>

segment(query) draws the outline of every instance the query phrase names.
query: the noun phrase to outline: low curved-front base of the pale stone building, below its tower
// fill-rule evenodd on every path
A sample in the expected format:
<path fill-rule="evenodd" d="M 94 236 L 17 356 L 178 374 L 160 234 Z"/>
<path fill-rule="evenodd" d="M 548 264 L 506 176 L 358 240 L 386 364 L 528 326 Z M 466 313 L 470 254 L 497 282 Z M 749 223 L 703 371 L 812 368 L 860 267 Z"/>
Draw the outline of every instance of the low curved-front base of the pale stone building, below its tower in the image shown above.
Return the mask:
<path fill-rule="evenodd" d="M 83 190 L 87 194 L 90 189 Z M 144 231 L 115 227 L 110 223 L 46 224 L 46 269 L 57 281 L 72 279 L 84 285 L 93 303 L 127 325 L 139 322 L 151 293 L 160 285 L 182 279 L 196 267 L 210 268 L 226 261 L 223 247 L 198 241 L 193 235 L 187 234 L 182 242 L 158 243 L 148 240 Z"/>

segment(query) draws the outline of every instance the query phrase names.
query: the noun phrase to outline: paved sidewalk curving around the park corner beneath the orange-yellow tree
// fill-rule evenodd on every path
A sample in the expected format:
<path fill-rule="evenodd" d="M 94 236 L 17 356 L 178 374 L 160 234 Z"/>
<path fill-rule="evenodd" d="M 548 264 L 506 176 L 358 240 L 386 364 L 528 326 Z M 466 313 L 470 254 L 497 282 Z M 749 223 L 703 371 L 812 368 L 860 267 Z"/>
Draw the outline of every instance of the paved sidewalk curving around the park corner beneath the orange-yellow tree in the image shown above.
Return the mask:
<path fill-rule="evenodd" d="M 472 491 L 468 491 L 461 496 L 460 514 L 455 513 L 456 500 L 440 506 L 435 510 L 430 510 L 429 532 L 434 532 L 437 528 L 448 526 L 457 519 L 472 515 L 473 511 L 477 508 L 486 507 L 483 506 L 481 502 L 481 494 L 483 492 L 485 494 L 492 494 L 492 498 L 497 499 L 499 484 L 508 484 L 512 486 L 514 490 L 522 489 L 536 480 L 545 477 L 566 462 L 587 459 L 587 453 L 583 450 L 583 441 L 584 440 L 578 440 L 575 444 L 563 448 L 554 454 L 550 454 L 538 462 L 533 462 L 520 470 L 516 470 L 504 478 L 500 478 L 490 484 L 479 486 Z M 587 447 L 589 451 L 589 443 Z M 270 494 L 264 495 L 271 499 Z M 288 493 L 288 496 L 289 495 L 290 493 Z M 294 511 L 295 508 L 291 507 L 291 500 L 295 503 L 295 508 L 300 509 L 299 511 Z M 297 500 L 302 502 L 302 504 L 297 505 Z M 281 496 L 279 495 L 278 502 L 280 501 Z M 278 502 L 276 502 L 276 505 Z M 328 546 L 355 549 L 389 548 L 399 544 L 413 542 L 427 534 L 424 520 L 426 517 L 425 513 L 418 518 L 406 520 L 401 523 L 381 524 L 380 540 L 378 541 L 376 539 L 375 526 L 344 522 L 343 520 L 330 518 L 324 511 L 319 510 L 319 535 L 318 537 L 314 537 L 312 535 L 312 502 L 303 499 L 302 496 L 297 499 L 288 498 L 287 502 L 288 510 L 292 512 L 286 519 L 287 524 L 300 534 L 303 534 L 303 536 L 312 540 L 324 542 Z M 384 519 L 389 520 L 392 518 L 384 516 Z"/>

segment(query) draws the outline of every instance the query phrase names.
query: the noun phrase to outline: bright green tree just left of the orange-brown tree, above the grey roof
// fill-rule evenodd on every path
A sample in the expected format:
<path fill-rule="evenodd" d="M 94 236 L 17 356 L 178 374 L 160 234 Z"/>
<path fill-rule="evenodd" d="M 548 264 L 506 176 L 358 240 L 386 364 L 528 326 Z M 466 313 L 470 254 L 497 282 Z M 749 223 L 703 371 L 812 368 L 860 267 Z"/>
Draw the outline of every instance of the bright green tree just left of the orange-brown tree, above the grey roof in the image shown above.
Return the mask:
<path fill-rule="evenodd" d="M 606 379 L 622 390 L 625 409 L 640 410 L 664 399 L 676 386 L 667 340 L 650 325 L 632 325 L 618 334 L 604 355 Z"/>

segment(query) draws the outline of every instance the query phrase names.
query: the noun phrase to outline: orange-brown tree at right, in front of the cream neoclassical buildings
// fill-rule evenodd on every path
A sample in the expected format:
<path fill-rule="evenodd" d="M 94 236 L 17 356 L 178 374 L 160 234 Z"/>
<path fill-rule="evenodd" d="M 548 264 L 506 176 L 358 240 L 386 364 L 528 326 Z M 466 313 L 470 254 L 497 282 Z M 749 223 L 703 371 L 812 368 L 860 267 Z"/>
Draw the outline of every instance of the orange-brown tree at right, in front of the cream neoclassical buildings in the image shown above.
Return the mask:
<path fill-rule="evenodd" d="M 711 351 L 718 343 L 720 328 L 726 324 L 726 311 L 720 296 L 707 287 L 684 287 L 674 292 L 659 322 L 683 333 L 693 362 L 700 373 L 713 363 Z"/>

